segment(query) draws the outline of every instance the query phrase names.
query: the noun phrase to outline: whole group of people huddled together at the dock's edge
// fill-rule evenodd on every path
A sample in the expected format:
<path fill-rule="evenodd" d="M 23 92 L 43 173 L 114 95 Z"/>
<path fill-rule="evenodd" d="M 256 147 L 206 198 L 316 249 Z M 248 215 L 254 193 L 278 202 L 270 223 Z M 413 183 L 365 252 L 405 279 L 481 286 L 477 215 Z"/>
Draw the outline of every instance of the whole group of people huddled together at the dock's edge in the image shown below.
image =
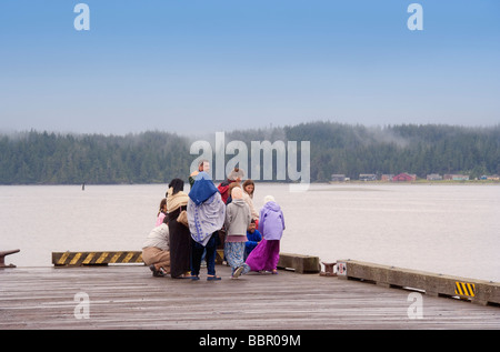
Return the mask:
<path fill-rule="evenodd" d="M 254 183 L 234 170 L 216 187 L 208 161 L 201 161 L 189 177 L 191 190 L 173 179 L 160 203 L 154 229 L 142 248 L 142 260 L 153 276 L 200 280 L 202 259 L 207 280 L 218 281 L 217 248 L 223 245 L 231 278 L 250 271 L 278 273 L 280 240 L 284 230 L 283 212 L 272 195 L 264 198 L 258 212 L 253 207 Z"/>

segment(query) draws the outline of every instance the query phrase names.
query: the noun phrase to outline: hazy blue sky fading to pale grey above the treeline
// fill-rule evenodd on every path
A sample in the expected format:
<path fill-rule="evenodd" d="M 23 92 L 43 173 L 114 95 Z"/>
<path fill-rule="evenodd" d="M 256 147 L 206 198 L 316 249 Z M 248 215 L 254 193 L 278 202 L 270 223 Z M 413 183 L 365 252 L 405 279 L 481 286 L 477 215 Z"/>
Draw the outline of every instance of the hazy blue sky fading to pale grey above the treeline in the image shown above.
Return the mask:
<path fill-rule="evenodd" d="M 499 19 L 498 0 L 2 0 L 0 131 L 497 124 Z"/>

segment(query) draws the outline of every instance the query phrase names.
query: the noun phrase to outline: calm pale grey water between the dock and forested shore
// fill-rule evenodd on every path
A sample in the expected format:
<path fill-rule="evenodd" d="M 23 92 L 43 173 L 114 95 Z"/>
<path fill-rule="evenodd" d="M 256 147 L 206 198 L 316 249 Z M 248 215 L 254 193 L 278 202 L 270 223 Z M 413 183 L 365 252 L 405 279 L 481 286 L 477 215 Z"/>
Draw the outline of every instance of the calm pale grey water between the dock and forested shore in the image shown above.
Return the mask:
<path fill-rule="evenodd" d="M 0 250 L 18 266 L 49 266 L 51 252 L 140 250 L 167 185 L 0 187 Z M 500 281 L 500 185 L 319 184 L 272 194 L 287 230 L 281 251 L 356 259 Z"/>

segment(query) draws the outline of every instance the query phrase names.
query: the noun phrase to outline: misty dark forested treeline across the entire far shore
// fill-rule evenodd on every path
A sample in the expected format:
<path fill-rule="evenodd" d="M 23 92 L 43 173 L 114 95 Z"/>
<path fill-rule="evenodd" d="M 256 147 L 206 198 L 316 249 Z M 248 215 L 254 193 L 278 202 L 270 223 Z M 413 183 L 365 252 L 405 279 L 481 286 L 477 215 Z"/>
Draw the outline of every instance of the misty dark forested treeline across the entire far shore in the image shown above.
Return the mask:
<path fill-rule="evenodd" d="M 500 124 L 464 128 L 438 124 L 364 127 L 310 122 L 226 133 L 239 140 L 310 141 L 311 181 L 332 173 L 500 173 Z M 0 184 L 112 184 L 187 181 L 192 140 L 149 131 L 127 135 L 29 131 L 0 135 Z M 232 155 L 226 155 L 226 161 Z M 249 161 L 250 164 L 250 161 Z M 300 165 L 300 164 L 299 164 Z M 274 170 L 276 172 L 276 170 Z M 250 174 L 251 177 L 251 174 Z"/>

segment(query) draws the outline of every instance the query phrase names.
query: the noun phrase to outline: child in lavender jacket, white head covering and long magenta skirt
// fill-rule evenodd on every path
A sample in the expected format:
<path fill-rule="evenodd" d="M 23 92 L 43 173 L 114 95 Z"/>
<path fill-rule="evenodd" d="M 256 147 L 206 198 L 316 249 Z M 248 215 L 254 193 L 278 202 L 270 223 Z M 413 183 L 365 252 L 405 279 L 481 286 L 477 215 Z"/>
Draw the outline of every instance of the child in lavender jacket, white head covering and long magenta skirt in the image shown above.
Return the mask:
<path fill-rule="evenodd" d="M 284 218 L 280 205 L 272 195 L 264 198 L 264 205 L 260 210 L 259 219 L 259 232 L 263 239 L 247 258 L 247 264 L 251 271 L 271 271 L 277 274 Z"/>

